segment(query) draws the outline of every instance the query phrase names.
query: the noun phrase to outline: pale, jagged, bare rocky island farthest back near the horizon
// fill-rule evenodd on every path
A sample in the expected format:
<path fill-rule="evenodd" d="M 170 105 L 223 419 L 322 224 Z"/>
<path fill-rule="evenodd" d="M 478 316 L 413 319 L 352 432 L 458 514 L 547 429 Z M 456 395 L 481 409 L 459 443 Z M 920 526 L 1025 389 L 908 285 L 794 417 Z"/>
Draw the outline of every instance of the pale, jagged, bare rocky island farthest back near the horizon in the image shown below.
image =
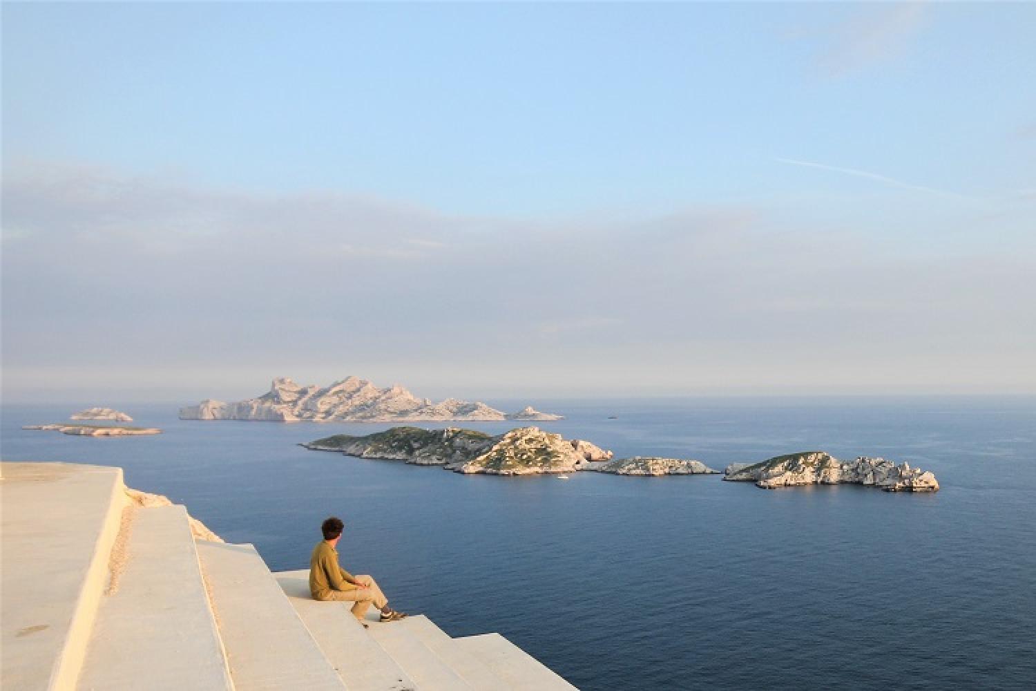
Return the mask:
<path fill-rule="evenodd" d="M 562 415 L 526 407 L 505 413 L 485 403 L 449 398 L 433 403 L 394 385 L 378 388 L 370 381 L 346 377 L 328 386 L 299 386 L 288 377 L 278 377 L 267 393 L 235 403 L 205 400 L 180 408 L 180 420 L 254 420 L 291 423 L 314 422 L 421 422 L 421 421 L 551 421 Z"/>

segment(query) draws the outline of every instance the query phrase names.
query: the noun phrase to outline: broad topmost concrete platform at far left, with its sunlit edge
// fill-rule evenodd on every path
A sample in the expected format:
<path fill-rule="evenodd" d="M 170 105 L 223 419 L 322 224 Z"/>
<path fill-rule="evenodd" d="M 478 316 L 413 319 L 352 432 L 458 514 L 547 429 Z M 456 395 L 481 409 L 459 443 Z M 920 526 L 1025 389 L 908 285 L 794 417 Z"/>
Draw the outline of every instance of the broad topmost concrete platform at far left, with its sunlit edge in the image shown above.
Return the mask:
<path fill-rule="evenodd" d="M 121 468 L 3 463 L 0 679 L 75 688 L 128 506 Z"/>

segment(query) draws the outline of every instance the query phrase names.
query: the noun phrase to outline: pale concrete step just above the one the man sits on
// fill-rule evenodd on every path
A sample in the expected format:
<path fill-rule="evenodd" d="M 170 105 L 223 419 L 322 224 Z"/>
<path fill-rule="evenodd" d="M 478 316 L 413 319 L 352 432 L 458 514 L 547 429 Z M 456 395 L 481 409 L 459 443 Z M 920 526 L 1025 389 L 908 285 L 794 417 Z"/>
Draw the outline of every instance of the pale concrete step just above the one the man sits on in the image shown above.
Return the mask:
<path fill-rule="evenodd" d="M 197 546 L 237 691 L 345 688 L 255 547 Z"/>

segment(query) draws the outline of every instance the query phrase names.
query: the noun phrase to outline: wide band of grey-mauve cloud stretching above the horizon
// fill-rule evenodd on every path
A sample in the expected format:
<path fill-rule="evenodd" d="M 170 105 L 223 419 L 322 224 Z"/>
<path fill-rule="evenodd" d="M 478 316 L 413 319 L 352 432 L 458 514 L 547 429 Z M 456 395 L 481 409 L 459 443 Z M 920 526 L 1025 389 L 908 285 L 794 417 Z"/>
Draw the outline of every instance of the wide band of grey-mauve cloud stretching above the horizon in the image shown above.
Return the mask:
<path fill-rule="evenodd" d="M 834 224 L 744 205 L 545 223 L 333 192 L 32 172 L 27 180 L 8 166 L 3 181 L 7 395 L 139 385 L 190 390 L 190 401 L 215 388 L 248 394 L 257 373 L 299 362 L 307 379 L 454 382 L 444 394 L 458 381 L 563 395 L 725 391 L 774 372 L 794 387 L 825 385 L 829 372 L 865 386 L 871 380 L 854 374 L 861 362 L 916 381 L 911 363 L 936 342 L 957 348 L 945 371 L 980 366 L 986 383 L 1036 381 L 1024 347 L 1036 286 L 1023 203 L 985 219 L 908 200 L 928 214 L 931 234 L 951 215 L 967 225 L 976 252 L 961 257 L 911 233 L 901 246 L 910 252 L 890 253 L 896 226 L 871 200 L 810 211 Z M 997 228 L 1020 239 L 991 242 Z"/>

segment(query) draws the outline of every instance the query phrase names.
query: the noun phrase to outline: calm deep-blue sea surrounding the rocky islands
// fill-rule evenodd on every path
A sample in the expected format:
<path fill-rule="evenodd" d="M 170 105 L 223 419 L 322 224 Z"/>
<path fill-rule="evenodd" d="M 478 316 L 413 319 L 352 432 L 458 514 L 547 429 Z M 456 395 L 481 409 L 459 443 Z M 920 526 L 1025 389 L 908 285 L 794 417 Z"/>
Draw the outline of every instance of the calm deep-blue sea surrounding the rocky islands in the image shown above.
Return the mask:
<path fill-rule="evenodd" d="M 618 455 L 885 456 L 933 470 L 933 495 L 465 477 L 294 445 L 387 425 L 181 422 L 175 405 L 115 406 L 156 437 L 19 429 L 97 403 L 117 402 L 5 407 L 3 458 L 120 465 L 274 570 L 305 568 L 337 514 L 343 565 L 398 607 L 498 631 L 584 689 L 1036 685 L 1036 399 L 536 402 L 568 415 L 543 427 Z"/>

